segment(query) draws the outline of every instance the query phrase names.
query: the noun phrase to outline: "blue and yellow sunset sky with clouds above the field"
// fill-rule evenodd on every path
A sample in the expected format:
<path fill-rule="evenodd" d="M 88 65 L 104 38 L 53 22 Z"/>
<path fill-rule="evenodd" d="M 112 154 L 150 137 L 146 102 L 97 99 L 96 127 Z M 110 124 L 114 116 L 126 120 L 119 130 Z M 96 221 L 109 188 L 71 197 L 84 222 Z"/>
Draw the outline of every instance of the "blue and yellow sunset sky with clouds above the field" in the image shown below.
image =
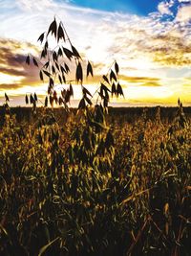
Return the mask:
<path fill-rule="evenodd" d="M 0 0 L 0 105 L 5 92 L 10 105 L 25 105 L 26 93 L 44 99 L 47 83 L 25 59 L 39 55 L 54 16 L 93 63 L 91 92 L 117 60 L 125 98 L 111 105 L 191 105 L 191 0 Z M 79 98 L 74 84 L 75 105 Z"/>

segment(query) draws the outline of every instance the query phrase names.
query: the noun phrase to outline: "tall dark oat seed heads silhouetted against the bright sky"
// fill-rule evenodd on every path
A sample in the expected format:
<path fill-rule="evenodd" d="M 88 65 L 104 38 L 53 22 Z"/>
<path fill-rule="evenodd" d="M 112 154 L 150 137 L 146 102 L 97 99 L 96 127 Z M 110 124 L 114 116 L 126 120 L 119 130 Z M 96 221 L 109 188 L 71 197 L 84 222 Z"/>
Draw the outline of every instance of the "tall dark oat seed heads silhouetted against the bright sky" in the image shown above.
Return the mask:
<path fill-rule="evenodd" d="M 57 19 L 54 17 L 48 32 L 43 33 L 39 36 L 38 40 L 43 44 L 40 58 L 28 55 L 26 58 L 26 63 L 35 65 L 39 68 L 39 77 L 41 81 L 48 81 L 48 96 L 45 99 L 45 106 L 48 103 L 53 106 L 64 105 L 68 107 L 71 97 L 74 97 L 73 82 L 81 86 L 82 99 L 79 102 L 78 108 L 84 109 L 86 105 L 93 105 L 92 94 L 83 85 L 84 72 L 83 66 L 84 61 L 82 60 L 79 52 L 74 47 L 67 31 L 60 21 L 58 23 Z M 55 45 L 51 48 L 51 43 Z M 74 72 L 75 67 L 75 72 Z M 98 93 L 98 98 L 101 99 L 104 107 L 108 106 L 110 95 L 123 95 L 122 87 L 119 84 L 117 75 L 119 72 L 118 64 L 115 61 L 114 70 L 111 67 L 107 76 L 102 77 L 102 82 L 99 89 L 96 91 Z M 70 79 L 71 73 L 75 73 L 75 79 Z M 86 67 L 86 77 L 93 77 L 93 67 L 90 61 L 87 62 Z M 56 90 L 56 86 L 62 86 L 60 95 Z M 110 88 L 108 88 L 108 86 Z M 35 95 L 34 95 L 35 96 Z M 36 100 L 32 95 L 30 96 L 30 103 L 34 106 L 36 105 Z M 28 96 L 26 95 L 26 104 L 29 104 Z"/>

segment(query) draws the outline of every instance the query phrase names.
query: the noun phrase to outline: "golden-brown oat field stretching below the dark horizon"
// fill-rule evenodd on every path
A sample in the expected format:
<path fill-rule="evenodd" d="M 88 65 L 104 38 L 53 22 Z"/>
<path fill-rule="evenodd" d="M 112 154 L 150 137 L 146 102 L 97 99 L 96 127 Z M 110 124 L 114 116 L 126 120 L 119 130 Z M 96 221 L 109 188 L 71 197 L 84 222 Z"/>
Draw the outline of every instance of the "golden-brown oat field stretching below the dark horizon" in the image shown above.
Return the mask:
<path fill-rule="evenodd" d="M 0 109 L 0 255 L 190 255 L 190 108 L 100 110 Z"/>

